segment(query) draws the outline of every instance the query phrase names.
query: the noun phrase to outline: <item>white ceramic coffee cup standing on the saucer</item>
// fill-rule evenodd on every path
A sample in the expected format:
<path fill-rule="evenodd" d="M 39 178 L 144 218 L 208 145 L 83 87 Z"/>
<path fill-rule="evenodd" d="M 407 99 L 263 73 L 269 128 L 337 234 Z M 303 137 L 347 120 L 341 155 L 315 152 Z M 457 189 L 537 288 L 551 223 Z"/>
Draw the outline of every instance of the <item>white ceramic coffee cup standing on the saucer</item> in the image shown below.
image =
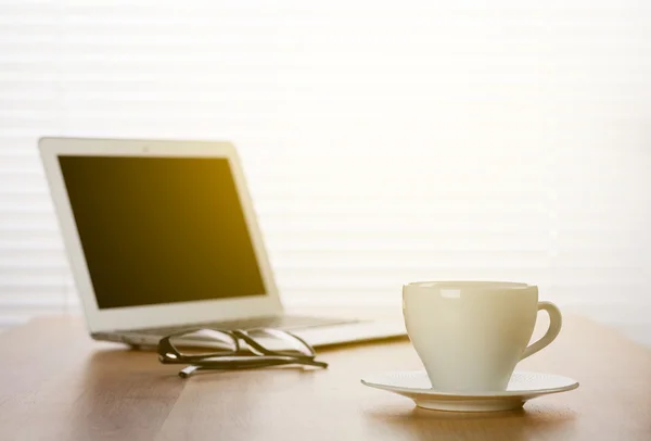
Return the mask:
<path fill-rule="evenodd" d="M 527 346 L 539 310 L 545 336 Z M 503 391 L 515 365 L 556 339 L 562 316 L 538 302 L 538 287 L 501 281 L 423 281 L 403 287 L 407 333 L 432 388 L 443 392 Z"/>

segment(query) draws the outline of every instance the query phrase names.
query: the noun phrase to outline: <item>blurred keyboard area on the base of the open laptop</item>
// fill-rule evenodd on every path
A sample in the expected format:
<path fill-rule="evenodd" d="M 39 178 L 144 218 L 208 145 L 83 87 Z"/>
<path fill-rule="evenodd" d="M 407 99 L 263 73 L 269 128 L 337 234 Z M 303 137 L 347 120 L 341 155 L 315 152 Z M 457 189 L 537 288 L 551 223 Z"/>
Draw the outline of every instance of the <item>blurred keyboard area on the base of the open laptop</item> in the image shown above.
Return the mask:
<path fill-rule="evenodd" d="M 253 328 L 275 328 L 275 329 L 305 329 L 318 326 L 343 325 L 359 322 L 349 318 L 328 318 L 328 317 L 311 317 L 303 315 L 281 315 L 269 317 L 242 318 L 229 322 L 212 322 L 196 324 L 192 326 L 175 326 L 154 329 L 139 329 L 122 333 L 139 333 L 152 336 L 168 336 L 170 333 L 181 332 L 192 328 L 214 328 L 214 329 L 253 329 Z"/>

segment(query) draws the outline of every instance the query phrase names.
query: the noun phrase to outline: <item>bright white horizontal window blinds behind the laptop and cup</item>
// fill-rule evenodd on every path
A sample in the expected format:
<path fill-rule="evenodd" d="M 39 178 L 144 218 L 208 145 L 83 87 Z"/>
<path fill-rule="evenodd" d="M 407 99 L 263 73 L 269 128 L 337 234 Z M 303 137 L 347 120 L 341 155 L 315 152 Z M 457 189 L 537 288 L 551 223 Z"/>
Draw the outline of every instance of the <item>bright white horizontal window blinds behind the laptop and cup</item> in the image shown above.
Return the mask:
<path fill-rule="evenodd" d="M 487 278 L 651 313 L 650 20 L 634 0 L 0 1 L 0 326 L 77 307 L 46 135 L 233 141 L 290 304 Z"/>

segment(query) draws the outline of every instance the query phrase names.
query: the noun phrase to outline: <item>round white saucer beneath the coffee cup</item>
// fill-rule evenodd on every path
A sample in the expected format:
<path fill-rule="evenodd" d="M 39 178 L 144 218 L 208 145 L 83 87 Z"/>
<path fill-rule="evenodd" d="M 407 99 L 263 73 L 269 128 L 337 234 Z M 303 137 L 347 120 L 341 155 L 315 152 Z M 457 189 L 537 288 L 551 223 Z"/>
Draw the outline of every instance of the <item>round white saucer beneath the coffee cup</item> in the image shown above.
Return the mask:
<path fill-rule="evenodd" d="M 578 388 L 572 378 L 552 374 L 515 371 L 506 391 L 450 393 L 432 389 L 424 370 L 369 375 L 362 385 L 410 398 L 416 405 L 433 411 L 497 412 L 520 408 L 527 400 Z"/>

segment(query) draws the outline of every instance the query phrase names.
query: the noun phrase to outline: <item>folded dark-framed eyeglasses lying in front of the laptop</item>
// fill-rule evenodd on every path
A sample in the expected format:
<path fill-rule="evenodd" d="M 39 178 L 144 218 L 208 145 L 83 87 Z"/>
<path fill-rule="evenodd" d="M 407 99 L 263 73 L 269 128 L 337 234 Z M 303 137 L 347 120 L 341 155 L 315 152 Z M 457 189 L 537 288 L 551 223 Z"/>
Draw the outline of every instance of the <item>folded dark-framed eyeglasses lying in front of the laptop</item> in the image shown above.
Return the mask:
<path fill-rule="evenodd" d="M 187 364 L 179 371 L 187 378 L 199 370 L 253 369 L 304 365 L 328 367 L 316 361 L 315 349 L 289 331 L 260 328 L 251 330 L 191 329 L 164 337 L 158 342 L 163 364 Z"/>

